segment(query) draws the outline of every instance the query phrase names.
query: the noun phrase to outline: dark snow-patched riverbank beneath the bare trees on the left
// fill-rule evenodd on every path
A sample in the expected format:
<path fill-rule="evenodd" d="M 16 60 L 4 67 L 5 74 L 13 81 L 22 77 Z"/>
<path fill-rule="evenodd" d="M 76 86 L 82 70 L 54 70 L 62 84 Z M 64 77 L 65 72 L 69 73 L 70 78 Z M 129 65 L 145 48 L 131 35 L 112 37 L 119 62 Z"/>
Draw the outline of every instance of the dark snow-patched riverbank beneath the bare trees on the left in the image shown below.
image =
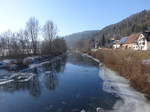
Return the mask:
<path fill-rule="evenodd" d="M 53 63 L 55 60 L 59 59 L 60 57 L 63 57 L 66 55 L 66 53 L 60 54 L 60 55 L 37 55 L 37 56 L 28 56 L 24 58 L 4 58 L 0 61 L 0 69 L 6 69 L 6 70 L 20 70 L 25 69 L 29 65 L 38 65 L 39 63 L 45 63 L 48 61 L 48 63 Z M 50 61 L 51 60 L 51 61 Z"/>

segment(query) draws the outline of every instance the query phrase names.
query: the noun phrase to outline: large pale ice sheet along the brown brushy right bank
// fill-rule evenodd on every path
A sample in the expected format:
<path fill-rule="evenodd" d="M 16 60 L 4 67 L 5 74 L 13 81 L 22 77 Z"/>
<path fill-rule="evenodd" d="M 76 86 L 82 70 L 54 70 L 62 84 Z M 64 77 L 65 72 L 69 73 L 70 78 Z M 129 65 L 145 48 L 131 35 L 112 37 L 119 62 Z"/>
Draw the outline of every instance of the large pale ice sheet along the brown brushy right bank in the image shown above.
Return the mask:
<path fill-rule="evenodd" d="M 108 112 L 150 112 L 150 103 L 143 94 L 130 87 L 128 80 L 106 67 L 100 69 L 99 75 L 104 80 L 103 90 L 122 99 Z"/>

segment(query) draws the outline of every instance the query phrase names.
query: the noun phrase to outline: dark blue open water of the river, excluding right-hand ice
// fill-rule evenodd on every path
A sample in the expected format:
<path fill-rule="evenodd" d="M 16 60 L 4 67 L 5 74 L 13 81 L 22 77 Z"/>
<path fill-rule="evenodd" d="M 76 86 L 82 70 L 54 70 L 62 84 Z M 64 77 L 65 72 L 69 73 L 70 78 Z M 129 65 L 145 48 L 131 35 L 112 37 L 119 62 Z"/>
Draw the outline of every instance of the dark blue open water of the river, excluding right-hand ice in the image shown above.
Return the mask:
<path fill-rule="evenodd" d="M 29 82 L 0 86 L 0 112 L 95 112 L 111 110 L 119 100 L 103 91 L 98 64 L 79 54 L 30 72 L 36 76 Z"/>

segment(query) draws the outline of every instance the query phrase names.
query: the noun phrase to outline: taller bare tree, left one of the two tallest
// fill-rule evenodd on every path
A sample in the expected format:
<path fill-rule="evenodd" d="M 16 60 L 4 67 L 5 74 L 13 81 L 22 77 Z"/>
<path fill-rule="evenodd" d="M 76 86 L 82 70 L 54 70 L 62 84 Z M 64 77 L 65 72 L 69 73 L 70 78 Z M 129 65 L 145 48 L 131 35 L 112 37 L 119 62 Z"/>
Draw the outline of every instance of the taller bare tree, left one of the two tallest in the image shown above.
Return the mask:
<path fill-rule="evenodd" d="M 29 39 L 31 40 L 33 54 L 36 55 L 38 51 L 37 39 L 39 33 L 39 22 L 37 19 L 30 18 L 26 24 L 26 31 L 28 33 Z"/>

